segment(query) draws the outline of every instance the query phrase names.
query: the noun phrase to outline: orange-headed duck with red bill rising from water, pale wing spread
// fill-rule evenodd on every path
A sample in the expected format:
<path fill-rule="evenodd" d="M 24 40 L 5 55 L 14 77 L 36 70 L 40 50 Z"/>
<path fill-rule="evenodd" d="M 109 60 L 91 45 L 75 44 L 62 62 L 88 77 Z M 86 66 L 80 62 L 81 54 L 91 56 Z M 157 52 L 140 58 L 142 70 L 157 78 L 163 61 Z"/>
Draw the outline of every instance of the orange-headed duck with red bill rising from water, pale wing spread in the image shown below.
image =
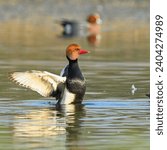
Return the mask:
<path fill-rule="evenodd" d="M 48 71 L 30 70 L 25 72 L 12 72 L 11 81 L 31 89 L 43 97 L 55 97 L 56 104 L 81 104 L 86 91 L 85 78 L 80 70 L 78 58 L 89 53 L 81 49 L 78 44 L 70 44 L 66 48 L 66 65 L 60 75 Z"/>

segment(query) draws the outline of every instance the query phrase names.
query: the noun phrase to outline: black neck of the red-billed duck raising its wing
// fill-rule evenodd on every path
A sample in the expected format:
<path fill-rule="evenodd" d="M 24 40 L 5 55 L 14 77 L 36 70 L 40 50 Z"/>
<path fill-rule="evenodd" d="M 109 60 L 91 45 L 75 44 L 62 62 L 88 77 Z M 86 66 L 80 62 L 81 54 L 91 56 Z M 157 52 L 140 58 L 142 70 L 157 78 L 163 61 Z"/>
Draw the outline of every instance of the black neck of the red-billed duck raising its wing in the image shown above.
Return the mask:
<path fill-rule="evenodd" d="M 78 65 L 78 59 L 76 60 L 69 60 L 69 68 L 68 68 L 68 78 L 69 79 L 78 79 L 84 80 L 84 77 L 81 73 L 81 70 Z"/>

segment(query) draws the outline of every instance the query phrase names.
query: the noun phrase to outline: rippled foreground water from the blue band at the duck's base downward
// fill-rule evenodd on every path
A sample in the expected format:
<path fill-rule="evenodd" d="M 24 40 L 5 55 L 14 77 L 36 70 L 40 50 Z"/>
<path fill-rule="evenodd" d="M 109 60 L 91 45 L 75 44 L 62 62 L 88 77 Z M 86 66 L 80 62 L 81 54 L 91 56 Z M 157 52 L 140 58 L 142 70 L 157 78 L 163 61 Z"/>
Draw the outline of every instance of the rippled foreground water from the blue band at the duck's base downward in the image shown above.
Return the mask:
<path fill-rule="evenodd" d="M 87 100 L 82 106 L 60 110 L 53 104 L 51 100 L 1 101 L 3 148 L 149 148 L 146 100 Z"/>

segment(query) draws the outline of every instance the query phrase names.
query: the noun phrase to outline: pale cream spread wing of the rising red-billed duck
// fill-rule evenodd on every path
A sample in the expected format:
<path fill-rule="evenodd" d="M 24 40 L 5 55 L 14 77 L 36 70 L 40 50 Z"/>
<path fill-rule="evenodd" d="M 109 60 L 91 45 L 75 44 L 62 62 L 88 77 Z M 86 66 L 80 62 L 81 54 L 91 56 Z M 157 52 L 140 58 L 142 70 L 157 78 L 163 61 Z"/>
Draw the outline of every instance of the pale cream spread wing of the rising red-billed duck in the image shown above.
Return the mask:
<path fill-rule="evenodd" d="M 16 84 L 30 88 L 44 97 L 51 96 L 57 90 L 58 84 L 66 81 L 66 77 L 36 70 L 11 73 L 10 79 Z"/>

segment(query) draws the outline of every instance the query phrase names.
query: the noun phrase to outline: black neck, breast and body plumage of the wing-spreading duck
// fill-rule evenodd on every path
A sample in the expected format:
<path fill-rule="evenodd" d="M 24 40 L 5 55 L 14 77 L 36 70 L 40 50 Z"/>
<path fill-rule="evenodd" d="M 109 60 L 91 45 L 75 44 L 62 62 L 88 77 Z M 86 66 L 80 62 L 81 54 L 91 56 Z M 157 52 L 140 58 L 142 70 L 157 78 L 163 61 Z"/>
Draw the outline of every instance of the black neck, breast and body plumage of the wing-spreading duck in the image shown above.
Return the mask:
<path fill-rule="evenodd" d="M 61 73 L 62 76 L 67 77 L 66 83 L 60 84 L 54 95 L 60 102 L 64 94 L 64 88 L 67 88 L 69 92 L 75 94 L 73 103 L 81 103 L 86 91 L 85 79 L 78 66 L 78 60 L 70 60 L 68 57 L 67 59 L 69 60 L 69 65 Z"/>

